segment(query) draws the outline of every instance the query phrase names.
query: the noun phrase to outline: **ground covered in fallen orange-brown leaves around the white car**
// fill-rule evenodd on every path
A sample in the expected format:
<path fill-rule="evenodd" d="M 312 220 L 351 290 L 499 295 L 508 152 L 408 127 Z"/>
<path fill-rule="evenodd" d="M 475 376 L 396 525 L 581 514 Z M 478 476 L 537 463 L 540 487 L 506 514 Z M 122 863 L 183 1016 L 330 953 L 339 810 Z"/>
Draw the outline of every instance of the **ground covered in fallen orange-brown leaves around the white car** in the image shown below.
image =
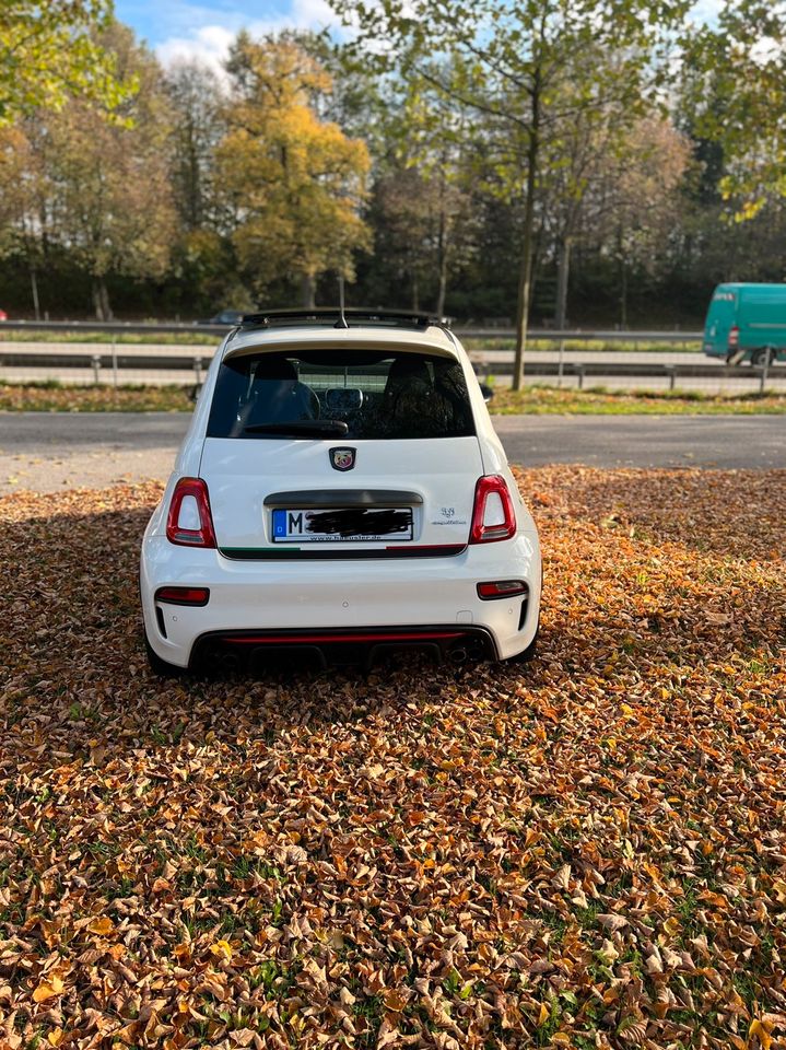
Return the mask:
<path fill-rule="evenodd" d="M 786 1045 L 786 471 L 530 470 L 529 666 L 162 684 L 0 501 L 0 1046 Z"/>

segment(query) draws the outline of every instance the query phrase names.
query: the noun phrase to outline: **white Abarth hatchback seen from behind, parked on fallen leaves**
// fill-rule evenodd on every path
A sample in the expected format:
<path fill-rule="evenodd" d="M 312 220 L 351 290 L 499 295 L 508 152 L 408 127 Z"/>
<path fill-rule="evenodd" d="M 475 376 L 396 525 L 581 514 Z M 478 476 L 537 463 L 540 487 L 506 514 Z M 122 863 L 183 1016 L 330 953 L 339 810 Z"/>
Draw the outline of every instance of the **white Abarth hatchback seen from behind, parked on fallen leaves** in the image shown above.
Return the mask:
<path fill-rule="evenodd" d="M 160 674 L 417 646 L 531 655 L 538 533 L 466 351 L 418 314 L 245 317 L 144 534 Z M 296 654 L 297 655 L 297 654 Z"/>

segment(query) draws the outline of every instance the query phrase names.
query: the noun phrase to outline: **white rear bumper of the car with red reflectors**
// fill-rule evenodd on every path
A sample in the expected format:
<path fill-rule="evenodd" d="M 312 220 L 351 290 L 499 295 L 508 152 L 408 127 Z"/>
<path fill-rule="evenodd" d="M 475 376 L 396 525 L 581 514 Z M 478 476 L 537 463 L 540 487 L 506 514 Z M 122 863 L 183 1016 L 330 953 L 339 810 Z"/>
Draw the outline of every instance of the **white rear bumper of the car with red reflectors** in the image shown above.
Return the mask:
<path fill-rule="evenodd" d="M 341 646 L 422 644 L 449 655 L 469 645 L 470 655 L 506 658 L 537 632 L 540 572 L 537 536 L 523 533 L 450 558 L 305 562 L 230 559 L 149 535 L 140 586 L 150 644 L 180 667 L 216 644 L 241 653 L 306 645 L 328 658 L 349 652 Z M 527 593 L 478 596 L 479 583 L 500 580 L 519 580 Z M 210 597 L 199 607 L 156 602 L 165 586 L 207 587 Z"/>

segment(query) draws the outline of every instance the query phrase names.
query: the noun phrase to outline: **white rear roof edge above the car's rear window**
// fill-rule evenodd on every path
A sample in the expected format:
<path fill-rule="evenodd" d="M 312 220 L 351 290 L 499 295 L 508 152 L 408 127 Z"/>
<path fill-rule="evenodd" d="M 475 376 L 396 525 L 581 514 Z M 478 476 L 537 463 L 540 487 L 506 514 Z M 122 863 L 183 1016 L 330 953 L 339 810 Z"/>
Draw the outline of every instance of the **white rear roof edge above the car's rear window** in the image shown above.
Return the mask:
<path fill-rule="evenodd" d="M 339 347 L 389 350 L 391 353 L 426 352 L 445 358 L 457 358 L 460 352 L 458 341 L 439 325 L 412 331 L 354 322 L 351 328 L 307 324 L 284 328 L 238 328 L 226 337 L 223 360 L 265 351 L 336 350 Z"/>

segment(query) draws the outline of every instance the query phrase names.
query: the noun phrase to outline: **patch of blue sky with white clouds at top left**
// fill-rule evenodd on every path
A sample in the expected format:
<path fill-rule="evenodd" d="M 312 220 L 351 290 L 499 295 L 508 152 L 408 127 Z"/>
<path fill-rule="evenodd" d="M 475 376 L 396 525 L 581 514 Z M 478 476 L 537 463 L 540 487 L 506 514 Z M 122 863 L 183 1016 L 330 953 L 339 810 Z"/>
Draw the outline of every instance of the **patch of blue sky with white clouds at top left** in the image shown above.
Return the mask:
<path fill-rule="evenodd" d="M 337 22 L 326 0 L 115 0 L 115 13 L 165 63 L 193 57 L 218 65 L 244 26 L 258 35 Z"/>

